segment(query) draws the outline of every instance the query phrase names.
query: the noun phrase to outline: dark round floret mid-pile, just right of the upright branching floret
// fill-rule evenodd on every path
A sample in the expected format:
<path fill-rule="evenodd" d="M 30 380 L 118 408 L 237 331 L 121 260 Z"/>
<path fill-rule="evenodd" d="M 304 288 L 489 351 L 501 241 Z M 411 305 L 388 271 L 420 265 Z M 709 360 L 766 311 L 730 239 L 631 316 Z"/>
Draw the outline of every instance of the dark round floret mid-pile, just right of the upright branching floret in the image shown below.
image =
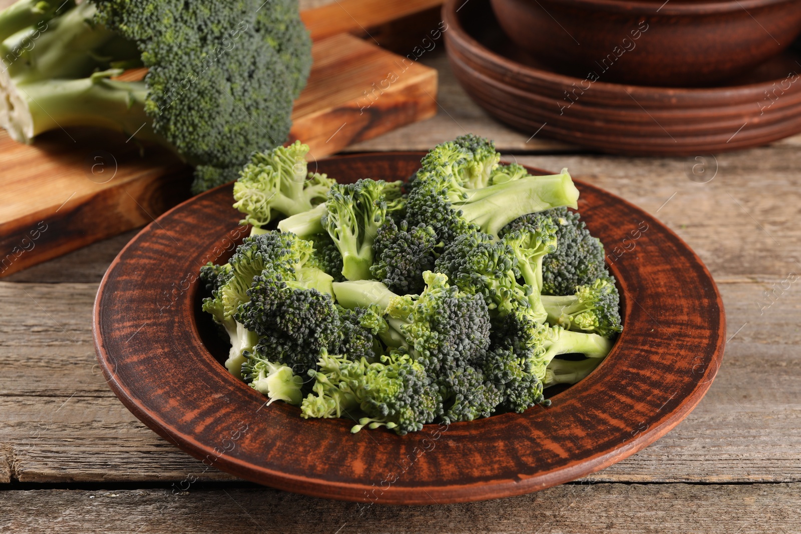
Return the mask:
<path fill-rule="evenodd" d="M 441 248 L 431 227 L 400 227 L 392 219 L 376 231 L 372 243 L 375 263 L 370 267 L 374 279 L 400 295 L 417 294 L 425 288 L 423 273 L 434 268 L 435 254 Z"/>

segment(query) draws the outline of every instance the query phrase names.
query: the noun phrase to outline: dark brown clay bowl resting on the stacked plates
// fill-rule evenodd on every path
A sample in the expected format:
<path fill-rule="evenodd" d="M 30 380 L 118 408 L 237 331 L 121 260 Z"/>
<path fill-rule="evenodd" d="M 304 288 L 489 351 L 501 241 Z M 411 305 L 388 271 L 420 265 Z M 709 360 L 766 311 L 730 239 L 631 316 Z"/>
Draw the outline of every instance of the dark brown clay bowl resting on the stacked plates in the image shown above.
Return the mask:
<path fill-rule="evenodd" d="M 513 42 L 606 82 L 710 86 L 787 48 L 798 0 L 492 0 Z"/>

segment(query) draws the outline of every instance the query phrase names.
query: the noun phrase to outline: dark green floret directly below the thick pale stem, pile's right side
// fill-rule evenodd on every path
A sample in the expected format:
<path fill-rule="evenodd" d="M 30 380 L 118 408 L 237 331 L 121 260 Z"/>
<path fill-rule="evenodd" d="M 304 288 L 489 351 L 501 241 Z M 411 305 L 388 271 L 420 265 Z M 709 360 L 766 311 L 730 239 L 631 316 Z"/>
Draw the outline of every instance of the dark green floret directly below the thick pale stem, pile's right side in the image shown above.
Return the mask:
<path fill-rule="evenodd" d="M 611 279 L 601 241 L 590 235 L 578 213 L 566 207 L 524 215 L 509 223 L 501 235 L 536 227 L 547 217 L 557 225 L 557 249 L 542 260 L 543 295 L 573 295 L 578 286 Z"/>

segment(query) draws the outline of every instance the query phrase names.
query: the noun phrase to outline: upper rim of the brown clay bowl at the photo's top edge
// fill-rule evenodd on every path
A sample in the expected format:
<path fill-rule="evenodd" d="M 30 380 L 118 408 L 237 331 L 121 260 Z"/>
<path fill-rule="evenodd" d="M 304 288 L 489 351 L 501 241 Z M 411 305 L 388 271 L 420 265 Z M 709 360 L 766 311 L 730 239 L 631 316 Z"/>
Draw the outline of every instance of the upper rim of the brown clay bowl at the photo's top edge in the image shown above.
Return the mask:
<path fill-rule="evenodd" d="M 506 0 L 492 0 L 505 2 Z M 775 4 L 797 2 L 798 0 L 552 0 L 559 6 L 582 10 L 626 13 L 634 16 L 674 16 L 725 14 L 742 10 L 753 10 Z M 536 0 L 528 0 L 535 3 Z"/>

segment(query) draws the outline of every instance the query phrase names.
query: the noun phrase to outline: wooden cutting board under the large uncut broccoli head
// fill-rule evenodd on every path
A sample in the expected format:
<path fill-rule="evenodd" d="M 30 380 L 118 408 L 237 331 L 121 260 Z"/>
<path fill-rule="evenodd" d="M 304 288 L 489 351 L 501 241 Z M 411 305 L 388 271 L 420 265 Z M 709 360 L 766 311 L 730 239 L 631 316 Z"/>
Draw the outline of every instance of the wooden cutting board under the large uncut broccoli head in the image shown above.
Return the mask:
<path fill-rule="evenodd" d="M 290 140 L 307 143 L 310 159 L 437 113 L 436 70 L 343 32 L 439 3 L 348 0 L 304 11 L 313 64 Z M 187 199 L 189 183 L 191 169 L 175 156 L 115 133 L 54 130 L 24 145 L 0 130 L 0 277 L 150 223 Z"/>

